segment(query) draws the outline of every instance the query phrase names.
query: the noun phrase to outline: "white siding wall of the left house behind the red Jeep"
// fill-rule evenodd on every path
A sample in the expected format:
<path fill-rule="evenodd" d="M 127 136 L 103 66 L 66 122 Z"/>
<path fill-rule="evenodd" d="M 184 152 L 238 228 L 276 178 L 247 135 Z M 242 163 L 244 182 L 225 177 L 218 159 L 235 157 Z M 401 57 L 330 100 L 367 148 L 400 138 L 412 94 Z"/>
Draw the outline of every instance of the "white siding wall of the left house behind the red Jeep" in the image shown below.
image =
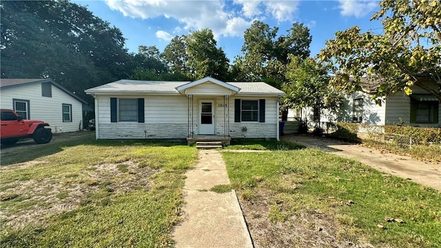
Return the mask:
<path fill-rule="evenodd" d="M 41 83 L 1 89 L 1 108 L 13 110 L 12 99 L 29 100 L 30 118 L 49 123 L 52 132 L 79 131 L 83 121 L 82 103 L 52 85 L 52 97 L 41 96 Z M 72 105 L 72 122 L 63 122 L 62 103 Z"/>

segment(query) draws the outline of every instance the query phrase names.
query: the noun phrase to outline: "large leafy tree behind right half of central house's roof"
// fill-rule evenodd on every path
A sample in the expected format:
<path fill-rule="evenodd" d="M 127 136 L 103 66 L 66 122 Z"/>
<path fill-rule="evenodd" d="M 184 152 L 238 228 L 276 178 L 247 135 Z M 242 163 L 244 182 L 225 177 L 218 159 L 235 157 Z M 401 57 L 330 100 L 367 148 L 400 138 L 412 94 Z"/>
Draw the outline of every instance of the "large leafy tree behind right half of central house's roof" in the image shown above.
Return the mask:
<path fill-rule="evenodd" d="M 243 56 L 236 57 L 234 70 L 238 80 L 266 81 L 280 88 L 287 81 L 286 66 L 289 54 L 305 59 L 311 43 L 309 28 L 293 23 L 285 35 L 278 36 L 278 28 L 262 21 L 254 21 L 245 30 Z"/>

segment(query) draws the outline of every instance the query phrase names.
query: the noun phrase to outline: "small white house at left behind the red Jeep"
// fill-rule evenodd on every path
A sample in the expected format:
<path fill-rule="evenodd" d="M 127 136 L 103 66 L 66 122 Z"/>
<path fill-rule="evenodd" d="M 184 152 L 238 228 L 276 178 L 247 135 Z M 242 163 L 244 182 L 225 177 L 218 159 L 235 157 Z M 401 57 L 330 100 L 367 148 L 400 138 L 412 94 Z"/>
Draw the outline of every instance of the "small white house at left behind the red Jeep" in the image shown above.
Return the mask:
<path fill-rule="evenodd" d="M 0 79 L 2 109 L 49 123 L 52 133 L 83 127 L 87 103 L 52 79 Z"/>

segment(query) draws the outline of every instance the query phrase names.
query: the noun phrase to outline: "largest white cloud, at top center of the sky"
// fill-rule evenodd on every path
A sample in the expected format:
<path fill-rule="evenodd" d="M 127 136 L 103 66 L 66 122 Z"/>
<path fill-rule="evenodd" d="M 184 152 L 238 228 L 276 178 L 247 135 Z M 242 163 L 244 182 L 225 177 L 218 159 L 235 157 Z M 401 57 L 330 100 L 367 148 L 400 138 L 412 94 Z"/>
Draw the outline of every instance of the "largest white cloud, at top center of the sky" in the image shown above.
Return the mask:
<path fill-rule="evenodd" d="M 240 37 L 254 19 L 274 18 L 277 21 L 292 21 L 298 7 L 298 1 L 234 0 L 235 4 L 242 5 L 242 10 L 227 12 L 225 4 L 231 2 L 224 0 L 105 0 L 105 2 L 112 10 L 117 10 L 127 17 L 176 19 L 186 30 L 210 28 L 215 37 Z M 171 29 L 170 32 L 176 33 L 176 30 L 179 29 Z M 158 32 L 156 37 L 163 35 Z"/>

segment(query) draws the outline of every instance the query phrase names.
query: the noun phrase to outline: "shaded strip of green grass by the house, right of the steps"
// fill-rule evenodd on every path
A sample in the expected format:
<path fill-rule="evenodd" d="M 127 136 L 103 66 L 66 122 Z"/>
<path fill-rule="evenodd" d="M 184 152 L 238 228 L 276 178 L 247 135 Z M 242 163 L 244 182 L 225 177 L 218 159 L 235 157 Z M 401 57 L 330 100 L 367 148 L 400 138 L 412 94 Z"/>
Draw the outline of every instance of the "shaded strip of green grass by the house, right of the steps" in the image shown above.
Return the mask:
<path fill-rule="evenodd" d="M 264 141 L 264 140 L 247 140 L 240 139 L 232 141 L 231 145 L 225 149 L 249 149 L 249 150 L 271 150 L 286 151 L 305 148 L 303 145 L 286 141 Z"/>

